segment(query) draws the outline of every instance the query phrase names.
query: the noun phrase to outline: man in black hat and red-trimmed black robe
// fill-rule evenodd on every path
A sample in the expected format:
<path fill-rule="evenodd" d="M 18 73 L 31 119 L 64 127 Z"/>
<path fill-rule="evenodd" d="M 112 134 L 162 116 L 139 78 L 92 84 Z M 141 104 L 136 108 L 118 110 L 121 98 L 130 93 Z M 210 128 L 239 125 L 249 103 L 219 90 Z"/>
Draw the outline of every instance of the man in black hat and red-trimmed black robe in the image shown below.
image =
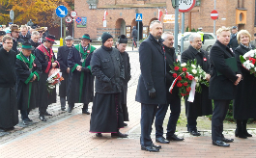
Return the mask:
<path fill-rule="evenodd" d="M 51 68 L 58 68 L 59 62 L 57 61 L 54 52 L 52 50 L 53 43 L 56 43 L 55 37 L 52 35 L 47 36 L 43 39 L 43 44 L 41 44 L 36 50 L 35 55 L 42 65 L 42 75 L 40 79 L 40 100 L 39 100 L 39 111 L 40 119 L 46 121 L 44 116 L 51 116 L 48 114 L 47 107 L 51 103 L 56 102 L 56 88 L 52 89 L 51 92 L 47 91 L 47 78 L 49 70 Z"/>

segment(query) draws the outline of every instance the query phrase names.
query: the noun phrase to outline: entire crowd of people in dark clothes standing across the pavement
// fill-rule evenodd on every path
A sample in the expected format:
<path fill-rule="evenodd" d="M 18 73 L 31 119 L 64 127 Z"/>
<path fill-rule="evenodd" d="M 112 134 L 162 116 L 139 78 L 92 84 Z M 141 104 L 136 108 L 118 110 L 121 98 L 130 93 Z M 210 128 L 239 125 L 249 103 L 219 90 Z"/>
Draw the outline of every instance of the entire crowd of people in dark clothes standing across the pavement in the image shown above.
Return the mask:
<path fill-rule="evenodd" d="M 1 28 L 1 27 L 0 27 Z M 231 34 L 232 32 L 232 34 Z M 254 35 L 256 37 L 256 35 Z M 235 136 L 252 137 L 247 132 L 248 118 L 256 118 L 256 80 L 253 74 L 242 66 L 240 55 L 255 48 L 256 40 L 246 30 L 219 28 L 217 40 L 210 52 L 202 47 L 202 35 L 193 33 L 190 45 L 182 52 L 181 63 L 196 59 L 197 65 L 207 73 L 209 87 L 201 85 L 202 91 L 195 92 L 194 101 L 185 97 L 187 131 L 192 136 L 200 136 L 197 118 L 213 115 L 213 145 L 229 146 L 234 139 L 222 134 L 223 120 L 231 100 L 234 100 L 234 118 L 237 120 Z M 127 92 L 130 80 L 130 64 L 125 35 L 114 38 L 109 33 L 101 36 L 100 48 L 94 47 L 89 34 L 84 34 L 78 44 L 73 44 L 71 36 L 65 38 L 66 45 L 60 46 L 57 58 L 52 50 L 55 37 L 36 24 L 28 27 L 15 24 L 10 30 L 0 31 L 0 131 L 13 130 L 18 123 L 18 110 L 24 125 L 32 109 L 39 108 L 39 118 L 46 121 L 51 116 L 47 107 L 56 102 L 56 87 L 48 90 L 47 78 L 54 68 L 59 68 L 62 77 L 59 86 L 61 110 L 71 113 L 75 103 L 83 103 L 82 113 L 90 115 L 90 132 L 102 137 L 111 133 L 112 137 L 127 138 L 128 134 L 119 131 L 127 126 Z M 161 145 L 154 145 L 151 139 L 155 120 L 156 143 L 169 144 L 170 141 L 184 141 L 176 134 L 176 125 L 181 113 L 179 88 L 172 86 L 174 77 L 172 66 L 178 61 L 173 47 L 174 35 L 162 31 L 162 24 L 154 20 L 150 24 L 150 35 L 139 47 L 141 74 L 138 80 L 135 100 L 141 103 L 142 150 L 158 152 Z M 234 71 L 226 59 L 235 59 Z M 212 102 L 213 100 L 213 102 Z M 93 102 L 92 112 L 88 104 Z M 163 119 L 170 107 L 166 138 L 163 137 Z"/>

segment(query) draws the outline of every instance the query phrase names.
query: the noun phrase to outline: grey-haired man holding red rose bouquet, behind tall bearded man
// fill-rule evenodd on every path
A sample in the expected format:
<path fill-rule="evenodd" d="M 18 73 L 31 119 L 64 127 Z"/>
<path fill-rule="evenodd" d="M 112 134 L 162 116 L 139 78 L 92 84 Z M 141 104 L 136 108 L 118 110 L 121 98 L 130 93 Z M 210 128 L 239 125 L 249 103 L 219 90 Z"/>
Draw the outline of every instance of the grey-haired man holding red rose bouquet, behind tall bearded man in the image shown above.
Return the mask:
<path fill-rule="evenodd" d="M 162 35 L 163 52 L 166 56 L 166 96 L 167 104 L 160 104 L 156 113 L 156 142 L 160 144 L 169 144 L 169 141 L 183 141 L 184 138 L 178 138 L 174 133 L 176 131 L 177 120 L 181 114 L 181 98 L 179 96 L 178 87 L 169 92 L 169 88 L 174 80 L 173 74 L 170 72 L 171 67 L 178 61 L 173 47 L 174 36 L 171 32 L 163 33 Z M 166 139 L 163 137 L 163 119 L 170 106 L 171 114 L 167 124 Z"/>

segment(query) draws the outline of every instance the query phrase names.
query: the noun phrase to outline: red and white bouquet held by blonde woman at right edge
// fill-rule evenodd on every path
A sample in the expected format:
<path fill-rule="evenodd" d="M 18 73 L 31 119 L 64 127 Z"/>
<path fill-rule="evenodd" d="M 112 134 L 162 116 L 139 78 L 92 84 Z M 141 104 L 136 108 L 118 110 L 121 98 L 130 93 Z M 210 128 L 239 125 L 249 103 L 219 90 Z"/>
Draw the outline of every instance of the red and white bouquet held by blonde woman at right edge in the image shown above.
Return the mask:
<path fill-rule="evenodd" d="M 250 74 L 254 74 L 256 77 L 256 51 L 250 50 L 247 53 L 245 53 L 243 56 L 240 56 L 240 61 L 242 63 L 242 66 L 250 71 Z"/>

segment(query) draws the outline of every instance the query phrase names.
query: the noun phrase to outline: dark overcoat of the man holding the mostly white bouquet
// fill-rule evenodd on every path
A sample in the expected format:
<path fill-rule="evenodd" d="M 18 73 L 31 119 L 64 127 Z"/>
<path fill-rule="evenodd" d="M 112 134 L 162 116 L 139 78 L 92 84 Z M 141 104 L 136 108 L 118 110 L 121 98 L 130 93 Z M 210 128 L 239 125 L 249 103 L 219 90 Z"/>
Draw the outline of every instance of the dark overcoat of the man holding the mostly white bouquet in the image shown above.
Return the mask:
<path fill-rule="evenodd" d="M 206 51 L 200 49 L 200 53 L 191 45 L 182 53 L 182 63 L 187 61 L 194 61 L 196 59 L 197 65 L 210 74 L 210 61 Z M 185 97 L 185 115 L 187 118 L 196 118 L 202 116 L 209 116 L 213 114 L 213 103 L 209 99 L 209 88 L 201 84 L 202 92 L 195 92 L 194 101 L 187 101 Z"/>

